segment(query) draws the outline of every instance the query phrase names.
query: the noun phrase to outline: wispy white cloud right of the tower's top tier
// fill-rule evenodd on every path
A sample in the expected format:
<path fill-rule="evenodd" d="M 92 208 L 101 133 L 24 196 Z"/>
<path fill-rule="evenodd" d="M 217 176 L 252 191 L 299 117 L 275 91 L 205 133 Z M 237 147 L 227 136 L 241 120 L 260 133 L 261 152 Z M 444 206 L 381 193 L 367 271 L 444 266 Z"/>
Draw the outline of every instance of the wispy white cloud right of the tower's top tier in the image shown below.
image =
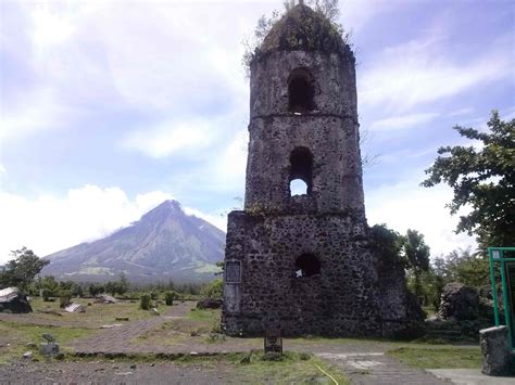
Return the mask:
<path fill-rule="evenodd" d="M 472 87 L 513 77 L 508 39 L 482 51 L 466 64 L 443 51 L 440 38 L 412 40 L 386 48 L 370 60 L 360 75 L 361 102 L 390 111 L 407 111 L 416 105 L 456 95 Z"/>

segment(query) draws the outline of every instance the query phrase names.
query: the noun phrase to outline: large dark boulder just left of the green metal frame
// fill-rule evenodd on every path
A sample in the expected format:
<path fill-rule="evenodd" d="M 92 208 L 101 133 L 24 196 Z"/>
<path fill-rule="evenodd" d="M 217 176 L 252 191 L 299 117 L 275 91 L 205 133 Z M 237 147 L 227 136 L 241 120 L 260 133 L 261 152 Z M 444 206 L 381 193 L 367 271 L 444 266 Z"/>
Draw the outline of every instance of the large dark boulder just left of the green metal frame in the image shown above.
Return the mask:
<path fill-rule="evenodd" d="M 479 295 L 474 287 L 451 282 L 443 287 L 439 316 L 457 321 L 475 320 L 478 317 Z"/>

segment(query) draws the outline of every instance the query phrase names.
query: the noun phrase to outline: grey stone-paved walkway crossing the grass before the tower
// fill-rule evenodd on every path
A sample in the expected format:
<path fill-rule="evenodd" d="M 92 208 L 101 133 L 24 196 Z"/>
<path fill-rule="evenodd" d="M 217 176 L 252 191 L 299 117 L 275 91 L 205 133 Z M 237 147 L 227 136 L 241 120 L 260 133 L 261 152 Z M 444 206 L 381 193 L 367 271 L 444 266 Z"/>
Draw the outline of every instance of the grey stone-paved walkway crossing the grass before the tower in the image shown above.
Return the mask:
<path fill-rule="evenodd" d="M 223 343 L 208 344 L 199 338 L 188 338 L 188 344 L 159 346 L 134 344 L 134 339 L 174 318 L 185 317 L 191 304 L 172 307 L 167 313 L 152 319 L 134 321 L 122 326 L 106 329 L 100 333 L 76 341 L 72 347 L 80 354 L 219 354 L 261 349 L 261 339 L 227 338 Z M 285 339 L 285 349 L 309 351 L 340 368 L 354 384 L 450 384 L 431 373 L 409 368 L 385 355 L 387 346 L 363 342 L 363 344 L 327 344 Z"/>

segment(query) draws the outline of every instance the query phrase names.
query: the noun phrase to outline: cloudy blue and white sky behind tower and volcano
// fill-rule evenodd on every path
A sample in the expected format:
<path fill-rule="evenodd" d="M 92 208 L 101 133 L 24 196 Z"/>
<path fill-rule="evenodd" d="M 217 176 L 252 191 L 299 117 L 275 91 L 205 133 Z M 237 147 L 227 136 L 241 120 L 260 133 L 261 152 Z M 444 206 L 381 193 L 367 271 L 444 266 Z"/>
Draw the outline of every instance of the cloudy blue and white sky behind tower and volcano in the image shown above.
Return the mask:
<path fill-rule="evenodd" d="M 341 1 L 375 157 L 368 222 L 466 247 L 444 187 L 424 189 L 455 124 L 515 117 L 510 0 Z M 109 234 L 165 198 L 225 229 L 243 196 L 241 40 L 281 1 L 0 1 L 0 262 Z"/>

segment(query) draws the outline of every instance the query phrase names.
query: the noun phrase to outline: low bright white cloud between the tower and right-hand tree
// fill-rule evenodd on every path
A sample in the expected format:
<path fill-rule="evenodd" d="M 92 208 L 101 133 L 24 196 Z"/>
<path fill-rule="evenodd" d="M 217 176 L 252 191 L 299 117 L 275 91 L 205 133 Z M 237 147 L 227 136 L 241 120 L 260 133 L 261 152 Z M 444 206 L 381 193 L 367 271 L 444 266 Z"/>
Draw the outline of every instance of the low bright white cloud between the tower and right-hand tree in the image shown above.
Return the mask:
<path fill-rule="evenodd" d="M 407 229 L 420 231 L 434 257 L 459 247 L 475 247 L 472 238 L 454 233 L 459 218 L 451 217 L 449 209 L 444 207 L 452 201 L 451 189 L 418 187 L 416 181 L 422 179 L 415 176 L 393 185 L 381 185 L 367 191 L 368 223 L 386 223 L 401 233 L 405 233 Z"/>

